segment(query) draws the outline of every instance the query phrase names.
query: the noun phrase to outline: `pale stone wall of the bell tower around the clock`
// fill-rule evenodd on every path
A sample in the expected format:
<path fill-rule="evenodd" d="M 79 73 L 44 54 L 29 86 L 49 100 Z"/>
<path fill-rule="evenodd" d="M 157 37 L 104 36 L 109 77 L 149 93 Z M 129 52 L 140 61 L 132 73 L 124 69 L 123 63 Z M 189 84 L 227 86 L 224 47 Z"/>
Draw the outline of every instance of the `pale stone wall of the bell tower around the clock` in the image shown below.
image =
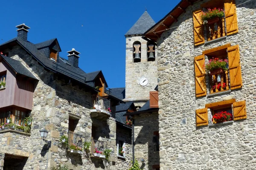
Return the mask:
<path fill-rule="evenodd" d="M 141 62 L 133 60 L 133 43 L 141 42 Z M 156 52 L 157 59 L 157 52 Z M 142 77 L 148 79 L 148 85 L 140 86 Z M 147 61 L 147 41 L 141 37 L 126 38 L 125 60 L 125 101 L 142 101 L 135 106 L 143 106 L 149 99 L 149 91 L 157 86 L 157 61 Z"/>

